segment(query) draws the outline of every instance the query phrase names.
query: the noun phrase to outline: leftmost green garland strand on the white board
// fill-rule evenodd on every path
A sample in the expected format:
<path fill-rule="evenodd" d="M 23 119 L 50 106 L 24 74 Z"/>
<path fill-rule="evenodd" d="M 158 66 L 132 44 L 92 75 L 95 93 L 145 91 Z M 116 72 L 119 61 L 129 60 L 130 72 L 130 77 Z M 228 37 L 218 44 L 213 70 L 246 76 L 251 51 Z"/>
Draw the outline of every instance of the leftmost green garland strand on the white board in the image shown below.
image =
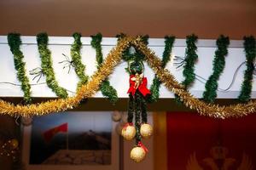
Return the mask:
<path fill-rule="evenodd" d="M 26 77 L 26 69 L 25 65 L 26 63 L 23 61 L 24 55 L 20 51 L 20 34 L 16 33 L 9 33 L 8 35 L 8 43 L 9 48 L 14 54 L 14 60 L 15 60 L 15 69 L 17 71 L 17 78 L 21 82 L 21 89 L 24 93 L 24 100 L 26 104 L 29 104 L 32 102 L 31 98 L 31 87 L 29 84 L 29 79 Z"/>

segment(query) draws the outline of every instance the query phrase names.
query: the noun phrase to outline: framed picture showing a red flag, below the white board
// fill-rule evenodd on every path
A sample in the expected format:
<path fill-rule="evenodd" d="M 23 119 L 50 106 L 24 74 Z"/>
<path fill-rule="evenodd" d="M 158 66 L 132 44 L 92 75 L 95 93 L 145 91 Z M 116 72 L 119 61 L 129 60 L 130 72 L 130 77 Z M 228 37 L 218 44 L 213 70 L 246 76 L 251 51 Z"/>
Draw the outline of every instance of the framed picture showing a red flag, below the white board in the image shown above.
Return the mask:
<path fill-rule="evenodd" d="M 26 170 L 118 170 L 119 134 L 112 111 L 67 111 L 33 117 L 24 127 Z"/>

